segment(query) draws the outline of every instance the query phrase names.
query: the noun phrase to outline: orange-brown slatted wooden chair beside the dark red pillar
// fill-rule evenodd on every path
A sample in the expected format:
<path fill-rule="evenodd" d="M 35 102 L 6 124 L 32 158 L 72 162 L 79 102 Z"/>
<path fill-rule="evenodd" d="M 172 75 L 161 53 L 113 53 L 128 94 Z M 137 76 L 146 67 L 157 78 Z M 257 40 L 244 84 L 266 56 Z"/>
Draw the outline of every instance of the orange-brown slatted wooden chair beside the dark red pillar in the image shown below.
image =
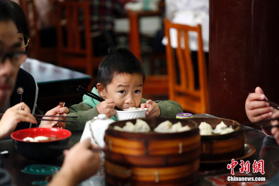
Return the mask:
<path fill-rule="evenodd" d="M 165 35 L 168 38 L 167 67 L 169 77 L 169 99 L 179 102 L 184 111 L 190 111 L 195 114 L 208 112 L 208 84 L 205 65 L 205 55 L 202 48 L 201 26 L 196 27 L 171 23 L 165 19 Z M 177 48 L 173 49 L 170 45 L 170 28 L 177 30 Z M 195 78 L 193 63 L 188 46 L 188 31 L 197 32 L 198 38 L 198 73 L 199 89 L 195 89 Z M 185 48 L 181 47 L 181 36 L 184 36 Z M 175 52 L 174 52 L 175 51 Z M 179 72 L 176 68 L 177 56 Z M 176 74 L 179 73 L 180 83 L 177 82 Z"/>

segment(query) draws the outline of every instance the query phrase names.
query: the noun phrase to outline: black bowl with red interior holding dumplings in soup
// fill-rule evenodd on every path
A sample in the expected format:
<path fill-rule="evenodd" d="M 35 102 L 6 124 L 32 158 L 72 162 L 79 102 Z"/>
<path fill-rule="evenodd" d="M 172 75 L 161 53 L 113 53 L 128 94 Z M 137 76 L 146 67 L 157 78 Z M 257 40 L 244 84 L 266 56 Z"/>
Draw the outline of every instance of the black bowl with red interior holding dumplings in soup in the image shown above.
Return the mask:
<path fill-rule="evenodd" d="M 58 128 L 30 128 L 17 130 L 11 134 L 19 154 L 29 159 L 52 159 L 60 156 L 63 151 L 54 150 L 51 147 L 65 146 L 68 144 L 71 132 Z M 55 137 L 54 140 L 41 142 L 25 142 L 26 137 L 46 136 Z"/>

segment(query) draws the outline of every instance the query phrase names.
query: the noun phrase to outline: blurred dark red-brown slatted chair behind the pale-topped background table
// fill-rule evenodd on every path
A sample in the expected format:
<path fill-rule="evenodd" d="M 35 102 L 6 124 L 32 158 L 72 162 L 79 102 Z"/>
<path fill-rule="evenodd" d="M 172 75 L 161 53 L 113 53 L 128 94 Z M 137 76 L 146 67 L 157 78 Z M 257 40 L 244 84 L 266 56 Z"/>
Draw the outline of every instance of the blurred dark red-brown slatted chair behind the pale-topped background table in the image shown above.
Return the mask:
<path fill-rule="evenodd" d="M 63 17 L 64 14 L 64 17 Z M 80 16 L 83 21 L 80 21 Z M 85 68 L 92 75 L 93 68 L 99 66 L 103 57 L 92 54 L 90 32 L 90 2 L 64 1 L 57 3 L 58 65 Z M 83 29 L 81 29 L 83 28 Z M 81 32 L 84 31 L 84 38 Z M 85 46 L 82 47 L 82 39 Z"/>

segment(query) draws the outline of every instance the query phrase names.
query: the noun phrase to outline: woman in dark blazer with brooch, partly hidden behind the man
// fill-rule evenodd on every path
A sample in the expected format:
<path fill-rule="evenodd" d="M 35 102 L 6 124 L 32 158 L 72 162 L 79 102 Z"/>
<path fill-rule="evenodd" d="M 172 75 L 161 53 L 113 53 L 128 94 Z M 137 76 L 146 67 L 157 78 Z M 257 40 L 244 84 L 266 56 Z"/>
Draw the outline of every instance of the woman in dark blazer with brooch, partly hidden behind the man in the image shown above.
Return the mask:
<path fill-rule="evenodd" d="M 26 48 L 28 47 L 30 36 L 29 36 L 29 28 L 27 24 L 26 17 L 21 9 L 21 7 L 13 1 L 10 0 L 1 0 L 0 6 L 2 11 L 0 12 L 0 20 L 12 20 L 16 25 L 17 32 L 17 41 L 18 46 L 16 48 L 17 55 L 20 53 L 24 53 Z M 14 54 L 14 53 L 13 53 Z M 1 55 L 1 54 L 0 54 Z M 36 103 L 38 97 L 38 86 L 32 75 L 30 75 L 25 70 L 19 68 L 18 75 L 16 79 L 16 84 L 13 90 L 13 93 L 10 96 L 10 99 L 7 105 L 3 110 L 0 110 L 0 113 L 4 113 L 8 108 L 13 107 L 14 105 L 24 102 L 31 110 L 31 113 L 35 113 Z M 61 106 L 57 106 L 50 111 L 48 111 L 47 115 L 56 115 L 59 113 L 67 113 L 68 108 Z M 43 126 L 52 126 L 55 123 L 42 121 L 41 124 Z M 32 124 L 30 122 L 20 122 L 16 130 L 29 128 L 29 127 L 37 127 L 37 124 Z"/>

